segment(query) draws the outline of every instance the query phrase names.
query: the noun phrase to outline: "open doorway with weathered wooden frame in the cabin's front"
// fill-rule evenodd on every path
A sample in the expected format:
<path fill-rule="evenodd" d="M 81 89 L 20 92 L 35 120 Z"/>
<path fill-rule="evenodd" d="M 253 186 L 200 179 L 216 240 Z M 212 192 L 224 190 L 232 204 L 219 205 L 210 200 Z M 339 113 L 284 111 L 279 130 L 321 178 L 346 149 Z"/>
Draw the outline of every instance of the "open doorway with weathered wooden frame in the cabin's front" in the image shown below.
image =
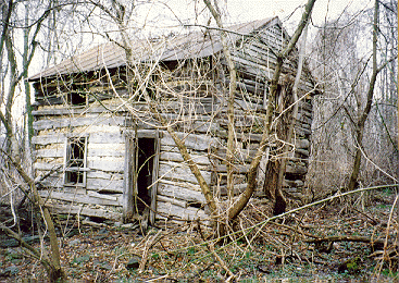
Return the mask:
<path fill-rule="evenodd" d="M 142 222 L 155 220 L 159 132 L 137 131 L 126 135 L 124 218 L 141 217 Z"/>

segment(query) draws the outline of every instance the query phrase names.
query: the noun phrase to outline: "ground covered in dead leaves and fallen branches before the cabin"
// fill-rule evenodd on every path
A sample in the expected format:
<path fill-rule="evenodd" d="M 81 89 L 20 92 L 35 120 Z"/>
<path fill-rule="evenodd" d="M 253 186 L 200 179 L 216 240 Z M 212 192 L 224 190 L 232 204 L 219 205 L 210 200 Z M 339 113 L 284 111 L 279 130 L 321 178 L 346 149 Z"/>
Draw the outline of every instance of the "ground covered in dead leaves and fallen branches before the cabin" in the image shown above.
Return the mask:
<path fill-rule="evenodd" d="M 252 199 L 236 232 L 217 241 L 208 239 L 212 231 L 196 221 L 158 222 L 142 235 L 138 225 L 59 217 L 61 261 L 70 282 L 392 282 L 398 279 L 395 193 L 395 187 L 371 190 L 363 208 L 335 197 L 275 219 L 271 204 Z M 2 282 L 46 278 L 20 249 L 2 245 Z"/>

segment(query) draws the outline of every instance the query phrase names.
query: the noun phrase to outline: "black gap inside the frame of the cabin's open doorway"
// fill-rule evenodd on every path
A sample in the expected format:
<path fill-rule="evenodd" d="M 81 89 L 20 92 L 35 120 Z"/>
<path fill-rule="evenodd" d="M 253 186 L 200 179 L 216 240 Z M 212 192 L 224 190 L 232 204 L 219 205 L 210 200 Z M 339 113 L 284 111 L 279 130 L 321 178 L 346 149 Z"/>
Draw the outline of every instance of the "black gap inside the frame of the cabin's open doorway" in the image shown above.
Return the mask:
<path fill-rule="evenodd" d="M 141 214 L 147 206 L 151 206 L 151 188 L 148 187 L 152 184 L 155 139 L 138 138 L 137 150 L 137 212 Z"/>

